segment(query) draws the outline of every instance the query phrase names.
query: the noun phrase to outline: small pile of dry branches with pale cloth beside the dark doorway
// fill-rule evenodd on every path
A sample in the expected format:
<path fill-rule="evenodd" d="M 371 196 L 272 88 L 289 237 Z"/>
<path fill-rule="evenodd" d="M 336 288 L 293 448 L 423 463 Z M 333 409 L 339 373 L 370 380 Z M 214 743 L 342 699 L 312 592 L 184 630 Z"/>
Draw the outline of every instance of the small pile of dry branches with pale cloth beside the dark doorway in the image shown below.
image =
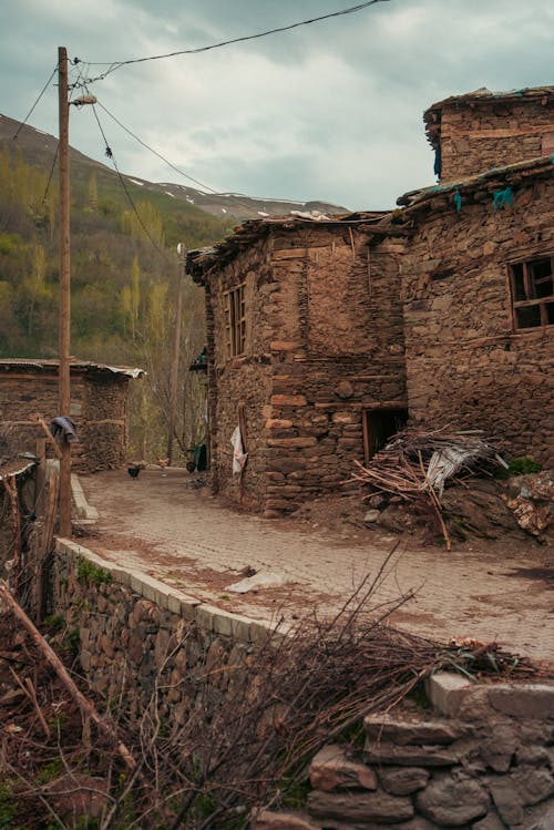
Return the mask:
<path fill-rule="evenodd" d="M 479 430 L 448 432 L 407 429 L 399 432 L 367 464 L 357 464 L 352 480 L 370 492 L 399 496 L 416 511 L 431 513 L 450 550 L 451 540 L 442 516 L 441 495 L 447 481 L 468 475 L 490 474 L 504 465 L 494 442 L 483 440 Z"/>

